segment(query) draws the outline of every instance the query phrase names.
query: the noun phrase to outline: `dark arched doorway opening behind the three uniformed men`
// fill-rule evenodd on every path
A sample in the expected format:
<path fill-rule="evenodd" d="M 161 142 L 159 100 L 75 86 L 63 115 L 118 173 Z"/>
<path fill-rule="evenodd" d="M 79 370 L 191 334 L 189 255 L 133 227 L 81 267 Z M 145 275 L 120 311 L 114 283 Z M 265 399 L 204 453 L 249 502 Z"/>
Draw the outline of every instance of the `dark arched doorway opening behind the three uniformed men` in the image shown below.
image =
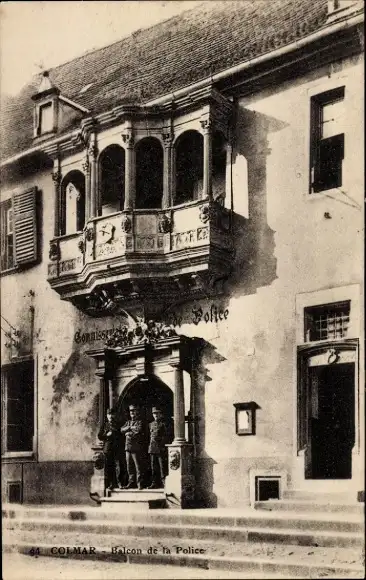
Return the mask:
<path fill-rule="evenodd" d="M 161 409 L 163 420 L 168 431 L 167 442 L 171 443 L 174 438 L 173 392 L 155 375 L 136 377 L 124 388 L 116 404 L 116 411 L 122 425 L 130 419 L 128 409 L 132 404 L 139 407 L 140 417 L 145 425 L 145 445 L 142 462 L 144 465 L 144 485 L 147 486 L 151 483 L 151 470 L 148 455 L 149 423 L 153 421 L 151 410 L 154 406 Z M 124 458 L 122 458 L 122 461 L 124 461 Z M 165 454 L 164 461 L 165 472 L 167 473 L 167 453 Z M 125 473 L 125 483 L 127 483 L 127 469 L 125 464 L 123 465 L 123 472 Z"/>

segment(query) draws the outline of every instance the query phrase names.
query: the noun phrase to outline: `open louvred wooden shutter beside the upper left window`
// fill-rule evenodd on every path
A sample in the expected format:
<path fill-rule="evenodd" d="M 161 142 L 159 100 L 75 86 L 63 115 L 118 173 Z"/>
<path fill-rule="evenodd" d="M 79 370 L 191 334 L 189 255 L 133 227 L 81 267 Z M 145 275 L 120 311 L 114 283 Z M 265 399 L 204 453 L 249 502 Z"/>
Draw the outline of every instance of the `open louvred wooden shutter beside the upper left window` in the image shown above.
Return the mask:
<path fill-rule="evenodd" d="M 15 265 L 37 260 L 36 188 L 13 195 Z"/>

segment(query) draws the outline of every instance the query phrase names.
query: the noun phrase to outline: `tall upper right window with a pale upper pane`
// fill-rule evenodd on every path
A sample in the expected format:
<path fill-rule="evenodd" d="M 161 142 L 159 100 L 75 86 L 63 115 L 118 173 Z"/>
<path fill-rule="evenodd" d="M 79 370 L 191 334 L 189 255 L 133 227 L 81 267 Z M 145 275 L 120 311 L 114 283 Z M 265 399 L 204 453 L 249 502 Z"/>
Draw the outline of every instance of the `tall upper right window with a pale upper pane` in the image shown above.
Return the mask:
<path fill-rule="evenodd" d="M 344 128 L 344 87 L 312 97 L 311 193 L 341 187 Z"/>

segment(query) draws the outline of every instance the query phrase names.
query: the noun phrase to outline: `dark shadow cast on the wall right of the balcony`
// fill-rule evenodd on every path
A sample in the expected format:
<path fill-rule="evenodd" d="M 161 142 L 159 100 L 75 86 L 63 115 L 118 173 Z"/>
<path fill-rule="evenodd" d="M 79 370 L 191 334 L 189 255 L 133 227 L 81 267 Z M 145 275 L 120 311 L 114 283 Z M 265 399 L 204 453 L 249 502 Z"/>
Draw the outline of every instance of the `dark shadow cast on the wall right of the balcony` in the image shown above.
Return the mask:
<path fill-rule="evenodd" d="M 232 296 L 253 294 L 277 278 L 275 232 L 267 223 L 267 196 L 271 194 L 267 183 L 268 136 L 284 127 L 282 121 L 238 107 L 233 163 L 239 155 L 247 161 L 249 217 L 235 213 L 234 199 L 235 261 L 228 282 Z"/>

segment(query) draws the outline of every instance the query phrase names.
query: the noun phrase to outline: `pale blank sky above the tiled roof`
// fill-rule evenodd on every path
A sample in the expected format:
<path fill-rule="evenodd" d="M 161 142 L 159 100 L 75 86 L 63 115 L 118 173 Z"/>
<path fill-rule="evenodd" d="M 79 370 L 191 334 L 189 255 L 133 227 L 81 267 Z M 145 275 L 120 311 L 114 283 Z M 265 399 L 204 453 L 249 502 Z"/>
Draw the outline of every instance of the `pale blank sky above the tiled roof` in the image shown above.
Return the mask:
<path fill-rule="evenodd" d="M 33 74 L 153 26 L 196 0 L 32 1 L 0 5 L 0 91 L 15 94 Z"/>

